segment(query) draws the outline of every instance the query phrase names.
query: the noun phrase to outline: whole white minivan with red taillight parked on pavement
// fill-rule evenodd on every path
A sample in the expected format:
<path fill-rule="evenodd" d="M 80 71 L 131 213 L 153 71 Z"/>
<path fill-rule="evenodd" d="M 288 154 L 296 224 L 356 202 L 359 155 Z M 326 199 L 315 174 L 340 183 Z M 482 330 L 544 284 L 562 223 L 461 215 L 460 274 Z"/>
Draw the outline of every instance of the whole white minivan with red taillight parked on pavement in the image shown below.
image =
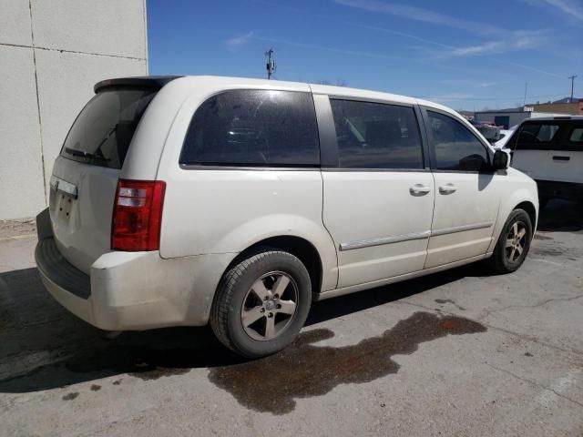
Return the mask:
<path fill-rule="evenodd" d="M 217 76 L 95 91 L 56 158 L 36 263 L 102 330 L 210 323 L 260 357 L 312 300 L 527 256 L 535 182 L 447 107 Z"/>

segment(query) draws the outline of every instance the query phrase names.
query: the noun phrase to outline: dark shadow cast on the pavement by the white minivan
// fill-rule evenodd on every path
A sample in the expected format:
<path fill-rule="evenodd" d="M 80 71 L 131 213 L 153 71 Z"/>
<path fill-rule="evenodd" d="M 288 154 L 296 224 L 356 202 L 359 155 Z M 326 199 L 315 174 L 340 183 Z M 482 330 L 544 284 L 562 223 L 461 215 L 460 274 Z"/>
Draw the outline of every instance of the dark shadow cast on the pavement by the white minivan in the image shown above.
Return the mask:
<path fill-rule="evenodd" d="M 474 264 L 314 302 L 306 325 L 486 274 Z M 42 391 L 126 374 L 152 380 L 244 361 L 224 348 L 209 327 L 125 332 L 116 340 L 100 334 L 48 295 L 36 269 L 0 274 L 0 392 Z"/>

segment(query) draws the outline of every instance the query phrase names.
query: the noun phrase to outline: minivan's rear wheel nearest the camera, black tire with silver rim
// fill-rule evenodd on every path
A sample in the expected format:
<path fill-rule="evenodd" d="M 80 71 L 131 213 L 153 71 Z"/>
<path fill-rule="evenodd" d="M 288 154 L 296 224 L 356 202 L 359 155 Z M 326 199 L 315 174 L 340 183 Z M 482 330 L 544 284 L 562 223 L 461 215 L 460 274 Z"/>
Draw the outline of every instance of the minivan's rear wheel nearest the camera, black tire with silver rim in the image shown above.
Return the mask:
<path fill-rule="evenodd" d="M 312 282 L 302 261 L 289 252 L 266 248 L 224 274 L 210 326 L 230 350 L 260 358 L 292 343 L 311 301 Z"/>

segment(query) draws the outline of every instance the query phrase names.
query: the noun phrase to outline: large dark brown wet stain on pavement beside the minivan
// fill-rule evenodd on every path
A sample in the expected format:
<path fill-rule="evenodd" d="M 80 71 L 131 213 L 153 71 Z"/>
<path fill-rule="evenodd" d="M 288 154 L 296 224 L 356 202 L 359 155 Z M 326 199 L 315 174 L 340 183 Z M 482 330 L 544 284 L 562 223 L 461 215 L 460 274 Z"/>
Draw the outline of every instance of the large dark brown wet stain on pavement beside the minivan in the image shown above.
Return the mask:
<path fill-rule="evenodd" d="M 297 398 L 322 396 L 339 384 L 369 382 L 396 373 L 400 365 L 391 357 L 409 355 L 420 343 L 485 331 L 484 325 L 473 320 L 420 311 L 382 335 L 351 346 L 315 346 L 331 339 L 332 330 L 307 331 L 271 357 L 213 368 L 209 379 L 251 410 L 285 414 L 294 410 Z"/>

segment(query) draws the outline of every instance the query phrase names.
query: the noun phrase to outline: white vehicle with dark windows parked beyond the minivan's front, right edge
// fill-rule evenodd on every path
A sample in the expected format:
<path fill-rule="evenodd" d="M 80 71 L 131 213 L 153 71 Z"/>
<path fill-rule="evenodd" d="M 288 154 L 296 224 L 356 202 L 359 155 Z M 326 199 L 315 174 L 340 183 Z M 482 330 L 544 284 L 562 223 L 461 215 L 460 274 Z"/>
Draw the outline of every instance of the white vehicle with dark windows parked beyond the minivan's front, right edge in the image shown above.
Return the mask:
<path fill-rule="evenodd" d="M 541 208 L 551 198 L 583 201 L 583 117 L 530 118 L 506 147 L 512 167 L 537 181 Z"/>

